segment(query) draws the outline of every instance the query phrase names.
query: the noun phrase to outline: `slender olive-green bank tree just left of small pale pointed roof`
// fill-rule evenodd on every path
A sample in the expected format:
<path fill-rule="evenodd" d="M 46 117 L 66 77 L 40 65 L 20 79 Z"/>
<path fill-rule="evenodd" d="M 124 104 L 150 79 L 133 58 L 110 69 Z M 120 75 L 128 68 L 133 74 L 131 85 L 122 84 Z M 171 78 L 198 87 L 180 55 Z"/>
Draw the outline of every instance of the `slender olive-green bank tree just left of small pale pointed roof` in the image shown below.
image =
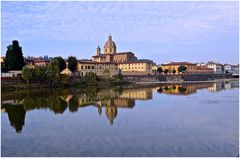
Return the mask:
<path fill-rule="evenodd" d="M 51 87 L 55 87 L 60 79 L 59 62 L 53 59 L 48 65 L 48 80 Z"/>

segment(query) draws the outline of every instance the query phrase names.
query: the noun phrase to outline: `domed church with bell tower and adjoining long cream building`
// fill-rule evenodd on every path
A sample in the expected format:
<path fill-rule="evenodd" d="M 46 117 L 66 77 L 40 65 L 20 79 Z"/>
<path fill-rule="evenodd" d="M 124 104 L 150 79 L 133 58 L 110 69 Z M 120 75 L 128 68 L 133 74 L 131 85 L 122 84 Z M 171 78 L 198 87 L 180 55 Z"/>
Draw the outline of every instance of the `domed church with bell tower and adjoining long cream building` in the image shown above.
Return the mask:
<path fill-rule="evenodd" d="M 79 60 L 77 71 L 82 76 L 94 72 L 98 76 L 108 69 L 112 76 L 122 73 L 123 75 L 149 75 L 152 73 L 153 61 L 139 60 L 133 52 L 117 52 L 117 46 L 109 35 L 103 47 L 96 49 L 96 55 L 91 60 Z"/>

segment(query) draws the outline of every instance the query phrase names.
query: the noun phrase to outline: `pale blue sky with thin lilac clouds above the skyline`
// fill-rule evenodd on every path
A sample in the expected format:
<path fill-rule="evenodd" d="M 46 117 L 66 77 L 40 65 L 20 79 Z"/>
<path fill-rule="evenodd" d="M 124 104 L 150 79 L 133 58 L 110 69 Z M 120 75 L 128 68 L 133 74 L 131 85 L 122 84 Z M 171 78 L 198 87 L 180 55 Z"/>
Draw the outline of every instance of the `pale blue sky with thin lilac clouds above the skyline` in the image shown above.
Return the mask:
<path fill-rule="evenodd" d="M 157 64 L 237 64 L 237 1 L 1 2 L 1 55 L 18 40 L 24 56 L 90 59 L 109 34 L 117 51 Z"/>

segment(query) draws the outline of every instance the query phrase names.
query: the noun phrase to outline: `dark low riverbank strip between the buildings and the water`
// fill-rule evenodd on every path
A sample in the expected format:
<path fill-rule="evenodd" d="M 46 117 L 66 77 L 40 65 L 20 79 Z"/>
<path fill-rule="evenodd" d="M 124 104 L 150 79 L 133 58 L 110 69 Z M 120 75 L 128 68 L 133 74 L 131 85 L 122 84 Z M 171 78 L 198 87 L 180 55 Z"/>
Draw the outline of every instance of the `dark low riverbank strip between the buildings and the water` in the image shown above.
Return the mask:
<path fill-rule="evenodd" d="M 1 91 L 19 91 L 19 90 L 31 90 L 31 89 L 56 89 L 56 88 L 90 88 L 90 87 L 111 87 L 111 86 L 123 86 L 123 85 L 156 85 L 156 84 L 190 84 L 190 83 L 210 83 L 210 82 L 228 82 L 239 81 L 238 78 L 211 78 L 208 80 L 161 80 L 157 76 L 124 76 L 121 81 L 115 80 L 98 80 L 91 81 L 75 81 L 68 82 L 68 84 L 58 84 L 56 87 L 49 87 L 47 83 L 44 84 L 26 84 L 25 81 L 17 80 L 17 82 L 4 82 L 1 83 Z"/>

